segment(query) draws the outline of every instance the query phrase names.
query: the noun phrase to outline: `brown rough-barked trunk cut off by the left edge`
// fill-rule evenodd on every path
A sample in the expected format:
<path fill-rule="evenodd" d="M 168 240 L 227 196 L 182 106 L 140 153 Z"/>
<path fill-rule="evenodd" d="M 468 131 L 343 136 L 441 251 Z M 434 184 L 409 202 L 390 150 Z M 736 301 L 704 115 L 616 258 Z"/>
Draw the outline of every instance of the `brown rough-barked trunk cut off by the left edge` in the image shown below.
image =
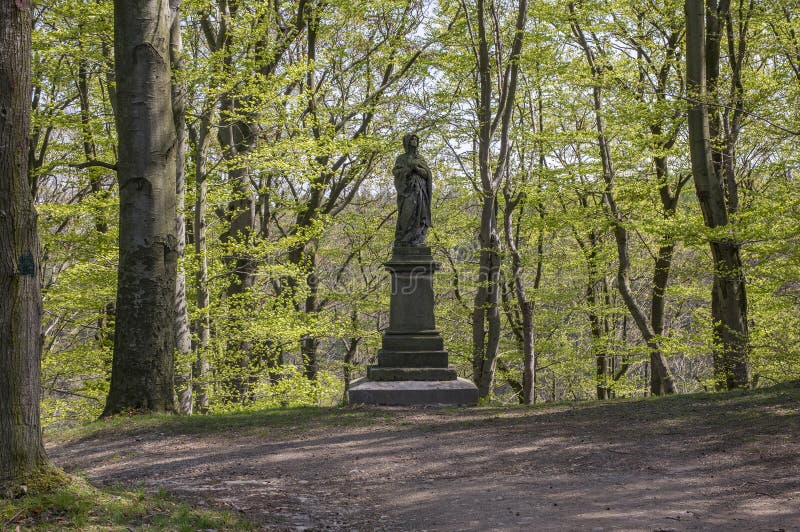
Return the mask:
<path fill-rule="evenodd" d="M 47 462 L 39 238 L 28 179 L 31 9 L 30 0 L 0 0 L 0 486 Z"/>

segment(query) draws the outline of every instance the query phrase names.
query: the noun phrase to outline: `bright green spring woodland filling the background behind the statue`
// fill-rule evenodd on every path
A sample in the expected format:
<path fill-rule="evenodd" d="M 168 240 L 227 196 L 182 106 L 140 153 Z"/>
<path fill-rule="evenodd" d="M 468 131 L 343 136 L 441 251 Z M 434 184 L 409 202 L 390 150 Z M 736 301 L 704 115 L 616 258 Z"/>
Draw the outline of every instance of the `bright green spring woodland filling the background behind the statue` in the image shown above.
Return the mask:
<path fill-rule="evenodd" d="M 483 397 L 666 393 L 659 360 L 677 392 L 726 387 L 720 240 L 740 247 L 746 286 L 749 373 L 734 384 L 800 378 L 800 5 L 708 2 L 719 71 L 698 96 L 683 2 L 473 4 L 181 3 L 183 412 L 343 400 L 388 324 L 391 165 L 409 131 L 434 175 L 437 325 Z M 112 364 L 112 3 L 38 2 L 33 49 L 43 421 L 67 423 L 101 413 Z M 699 98 L 725 170 L 715 228 L 692 180 Z"/>

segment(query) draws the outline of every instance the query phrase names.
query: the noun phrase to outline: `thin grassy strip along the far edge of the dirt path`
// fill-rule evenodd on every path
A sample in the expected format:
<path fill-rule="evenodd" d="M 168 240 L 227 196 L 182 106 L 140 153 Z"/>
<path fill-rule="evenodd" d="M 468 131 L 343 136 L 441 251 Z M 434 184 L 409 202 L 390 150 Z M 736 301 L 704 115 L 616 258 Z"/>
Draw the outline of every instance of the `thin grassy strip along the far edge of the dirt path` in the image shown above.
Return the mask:
<path fill-rule="evenodd" d="M 518 418 L 537 413 L 561 416 L 591 416 L 602 412 L 635 411 L 653 418 L 687 416 L 696 417 L 713 410 L 718 422 L 728 422 L 731 417 L 745 418 L 763 415 L 770 405 L 789 403 L 794 408 L 800 401 L 800 382 L 782 383 L 756 390 L 733 392 L 697 392 L 666 397 L 619 398 L 606 401 L 563 401 L 537 403 L 535 406 L 486 404 L 478 407 L 446 407 L 425 409 L 427 415 L 447 418 L 451 426 L 482 424 L 489 418 Z M 720 408 L 724 407 L 724 408 Z M 81 438 L 120 434 L 220 434 L 244 433 L 270 437 L 291 436 L 297 432 L 366 427 L 371 425 L 415 425 L 405 409 L 360 407 L 289 407 L 242 410 L 234 413 L 207 416 L 121 414 L 92 423 L 69 428 L 45 430 L 46 439 L 63 443 Z M 423 424 L 425 424 L 423 422 Z"/>

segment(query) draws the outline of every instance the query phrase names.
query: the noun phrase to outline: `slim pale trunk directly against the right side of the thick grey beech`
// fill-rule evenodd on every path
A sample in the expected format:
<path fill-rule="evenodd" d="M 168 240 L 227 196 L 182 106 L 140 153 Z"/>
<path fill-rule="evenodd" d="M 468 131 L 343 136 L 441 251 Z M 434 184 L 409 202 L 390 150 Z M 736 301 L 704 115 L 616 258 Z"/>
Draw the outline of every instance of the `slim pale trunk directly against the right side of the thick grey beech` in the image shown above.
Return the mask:
<path fill-rule="evenodd" d="M 170 2 L 172 26 L 170 28 L 170 65 L 173 72 L 183 68 L 183 40 L 181 38 L 180 0 Z M 186 271 L 180 264 L 186 252 L 186 215 L 184 197 L 186 195 L 186 88 L 172 80 L 172 113 L 175 123 L 175 232 L 178 254 L 178 268 L 175 279 L 175 391 L 178 396 L 178 411 L 192 413 L 192 335 L 189 330 L 189 306 L 186 301 Z"/>

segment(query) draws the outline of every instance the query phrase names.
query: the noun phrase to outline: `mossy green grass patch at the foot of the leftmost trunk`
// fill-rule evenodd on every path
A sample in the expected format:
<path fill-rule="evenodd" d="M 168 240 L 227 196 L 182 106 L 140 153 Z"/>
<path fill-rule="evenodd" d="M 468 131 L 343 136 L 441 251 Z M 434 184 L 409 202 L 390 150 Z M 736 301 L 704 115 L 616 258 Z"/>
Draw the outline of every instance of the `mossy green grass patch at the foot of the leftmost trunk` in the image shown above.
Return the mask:
<path fill-rule="evenodd" d="M 226 511 L 194 508 L 163 491 L 96 488 L 60 470 L 41 470 L 22 494 L 0 498 L 0 530 L 253 530 Z"/>

